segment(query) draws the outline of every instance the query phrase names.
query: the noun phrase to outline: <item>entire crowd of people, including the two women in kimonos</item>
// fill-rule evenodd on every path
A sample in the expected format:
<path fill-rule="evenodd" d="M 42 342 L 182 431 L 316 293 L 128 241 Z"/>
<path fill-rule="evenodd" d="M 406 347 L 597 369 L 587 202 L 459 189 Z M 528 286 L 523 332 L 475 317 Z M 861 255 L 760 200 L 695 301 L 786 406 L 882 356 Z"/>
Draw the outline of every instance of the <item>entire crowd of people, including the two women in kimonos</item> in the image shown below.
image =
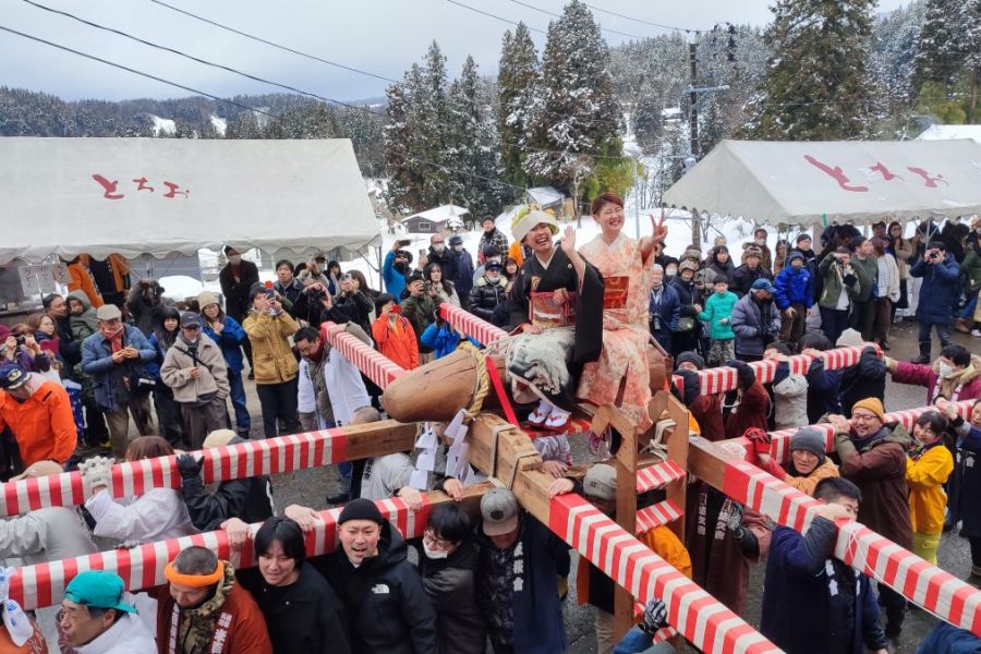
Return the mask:
<path fill-rule="evenodd" d="M 761 630 L 785 651 L 884 652 L 903 631 L 905 597 L 834 557 L 843 520 L 857 518 L 934 564 L 941 534 L 959 530 L 970 543 L 969 580 L 981 583 L 981 510 L 972 495 L 981 488 L 981 358 L 950 340 L 955 328 L 981 336 L 981 220 L 943 229 L 927 221 L 911 239 L 899 223 L 873 226 L 871 239 L 833 225 L 820 254 L 808 233 L 771 251 L 759 228 L 737 265 L 723 240 L 705 256 L 692 246 L 673 256 L 663 220 L 652 220 L 650 237 L 628 238 L 616 195 L 597 197 L 592 215 L 600 233 L 579 245 L 572 227 L 557 239 L 558 220 L 535 207 L 514 216 L 512 241 L 486 218 L 475 257 L 459 234 L 433 234 L 419 258 L 396 241 L 383 263 L 384 292 L 323 258 L 277 262 L 276 280 L 263 283 L 257 267 L 229 246 L 223 298 L 205 291 L 173 303 L 155 279 L 128 287 L 120 263 L 104 280 L 118 291 L 102 294 L 90 268 L 100 263 L 74 259 L 76 288 L 46 296 L 44 313 L 0 335 L 0 428 L 4 479 L 77 468 L 88 499 L 77 511 L 47 508 L 0 523 L 0 553 L 38 562 L 96 552 L 94 537 L 130 547 L 221 529 L 233 549 L 251 541 L 257 567 L 237 570 L 189 547 L 168 564 L 166 585 L 135 596 L 111 572 L 80 573 L 60 607 L 33 616 L 36 631 L 15 632 L 5 621 L 11 638 L 81 654 L 476 654 L 488 642 L 496 654 L 565 651 L 569 548 L 506 488 L 487 492 L 474 519 L 456 501 L 464 480 L 437 470 L 420 484 L 407 452 L 341 464 L 340 487 L 326 498 L 344 504 L 338 549 L 307 559 L 305 540 L 322 520 L 316 510 L 278 510 L 275 481 L 265 476 L 203 482 L 198 450 L 258 436 L 246 378 L 266 438 L 379 421 L 379 389 L 332 350 L 331 337 L 348 332 L 407 370 L 464 340 L 479 346 L 441 318 L 445 302 L 512 332 L 506 367 L 520 377 L 511 386 L 516 401 L 541 431 L 534 444 L 554 477 L 550 494 L 578 492 L 615 518 L 616 470 L 605 458 L 615 457 L 617 441 L 593 435 L 603 441 L 594 448 L 598 460 L 574 476 L 565 429 L 577 402 L 616 402 L 642 429 L 651 426 L 644 363 L 656 342 L 674 359 L 682 384 L 673 392 L 689 408 L 693 431 L 713 441 L 744 438 L 751 462 L 821 502 L 800 534 L 695 482 L 685 537 L 664 526 L 641 536 L 737 613 L 750 566 L 765 565 Z M 919 325 L 911 362 L 885 354 L 904 314 Z M 863 343 L 855 365 L 825 365 L 824 351 Z M 796 353 L 812 358 L 802 373 L 790 368 Z M 777 362 L 767 384 L 747 364 L 763 359 Z M 698 372 L 713 365 L 736 368 L 736 390 L 702 393 Z M 889 376 L 924 387 L 934 407 L 911 434 L 887 420 Z M 953 404 L 962 400 L 974 400 L 968 420 Z M 132 440 L 131 421 L 140 434 Z M 771 458 L 770 432 L 819 422 L 833 426 L 833 451 L 820 432 L 803 427 L 788 462 Z M 447 447 L 441 427 L 435 431 Z M 88 456 L 95 446 L 109 456 Z M 173 455 L 180 489 L 108 492 L 114 460 Z M 432 489 L 451 501 L 435 506 L 423 537 L 410 543 L 374 504 L 400 497 L 419 510 Z M 654 492 L 639 501 L 659 499 Z M 652 601 L 621 640 L 613 581 L 580 557 L 576 582 L 577 601 L 595 617 L 597 652 L 665 646 L 652 643 L 666 623 L 663 603 Z M 795 619 L 801 606 L 811 611 L 807 628 Z M 922 651 L 949 651 L 945 643 L 964 634 L 948 628 L 941 625 L 924 643 L 934 649 Z"/>

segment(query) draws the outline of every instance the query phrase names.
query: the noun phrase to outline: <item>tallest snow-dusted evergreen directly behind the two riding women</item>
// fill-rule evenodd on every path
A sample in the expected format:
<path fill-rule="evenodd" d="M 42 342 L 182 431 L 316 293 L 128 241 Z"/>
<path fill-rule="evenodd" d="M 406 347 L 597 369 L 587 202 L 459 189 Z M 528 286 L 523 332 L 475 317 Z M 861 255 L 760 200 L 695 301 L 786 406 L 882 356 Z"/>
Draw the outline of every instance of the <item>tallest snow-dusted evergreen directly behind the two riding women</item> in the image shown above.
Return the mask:
<path fill-rule="evenodd" d="M 570 189 L 577 204 L 595 156 L 620 155 L 620 109 L 608 64 L 600 26 L 585 4 L 572 0 L 548 25 L 524 169 L 534 179 Z"/>

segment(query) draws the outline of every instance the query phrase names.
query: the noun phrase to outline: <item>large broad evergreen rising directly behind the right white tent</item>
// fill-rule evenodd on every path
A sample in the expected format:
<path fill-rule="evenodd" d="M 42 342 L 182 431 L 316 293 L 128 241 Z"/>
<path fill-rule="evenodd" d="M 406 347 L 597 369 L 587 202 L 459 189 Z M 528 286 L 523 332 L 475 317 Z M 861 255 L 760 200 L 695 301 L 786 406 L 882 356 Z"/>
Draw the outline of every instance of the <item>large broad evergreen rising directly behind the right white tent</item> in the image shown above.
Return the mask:
<path fill-rule="evenodd" d="M 836 141 L 871 130 L 874 7 L 875 0 L 777 0 L 764 35 L 772 57 L 749 107 L 752 137 Z"/>

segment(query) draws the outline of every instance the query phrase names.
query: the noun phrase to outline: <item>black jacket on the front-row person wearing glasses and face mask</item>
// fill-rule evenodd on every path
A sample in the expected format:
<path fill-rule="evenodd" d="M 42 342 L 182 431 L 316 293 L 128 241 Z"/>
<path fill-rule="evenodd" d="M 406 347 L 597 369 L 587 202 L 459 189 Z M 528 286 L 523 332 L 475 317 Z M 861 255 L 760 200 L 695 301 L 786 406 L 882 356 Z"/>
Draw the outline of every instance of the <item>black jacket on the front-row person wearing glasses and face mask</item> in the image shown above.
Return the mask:
<path fill-rule="evenodd" d="M 476 546 L 467 540 L 445 559 L 420 556 L 420 566 L 436 610 L 439 654 L 484 654 L 487 627 L 476 598 Z"/>

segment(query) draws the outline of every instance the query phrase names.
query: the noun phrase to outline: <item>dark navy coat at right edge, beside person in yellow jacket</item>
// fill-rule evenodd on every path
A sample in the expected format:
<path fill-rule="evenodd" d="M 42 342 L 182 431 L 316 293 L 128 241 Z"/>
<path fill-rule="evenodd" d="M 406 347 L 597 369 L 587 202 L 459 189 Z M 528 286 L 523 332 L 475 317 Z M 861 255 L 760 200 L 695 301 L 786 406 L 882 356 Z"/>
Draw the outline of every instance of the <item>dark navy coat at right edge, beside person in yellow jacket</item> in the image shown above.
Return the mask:
<path fill-rule="evenodd" d="M 977 538 L 981 536 L 981 427 L 962 417 L 950 423 L 956 435 L 954 443 L 955 467 L 947 491 L 948 524 L 960 525 L 960 533 Z"/>

